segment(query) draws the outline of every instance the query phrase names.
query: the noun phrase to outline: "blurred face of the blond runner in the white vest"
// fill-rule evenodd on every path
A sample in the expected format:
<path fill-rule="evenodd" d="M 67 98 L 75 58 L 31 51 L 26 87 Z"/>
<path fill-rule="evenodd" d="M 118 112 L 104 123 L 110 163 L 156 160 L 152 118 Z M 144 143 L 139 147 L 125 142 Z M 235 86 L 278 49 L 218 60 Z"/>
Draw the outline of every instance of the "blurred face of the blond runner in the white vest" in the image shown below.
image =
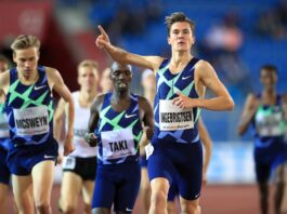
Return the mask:
<path fill-rule="evenodd" d="M 96 90 L 97 70 L 92 67 L 80 67 L 78 82 L 81 89 L 86 91 Z"/>

